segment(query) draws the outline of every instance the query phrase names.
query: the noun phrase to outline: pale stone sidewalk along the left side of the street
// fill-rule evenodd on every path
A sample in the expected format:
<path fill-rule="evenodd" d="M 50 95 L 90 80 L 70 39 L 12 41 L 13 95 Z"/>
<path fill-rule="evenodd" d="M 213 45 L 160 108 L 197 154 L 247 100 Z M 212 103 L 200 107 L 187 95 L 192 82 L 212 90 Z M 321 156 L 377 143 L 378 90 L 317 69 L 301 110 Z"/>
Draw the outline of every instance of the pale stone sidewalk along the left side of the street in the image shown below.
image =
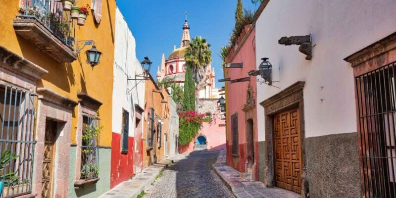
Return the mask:
<path fill-rule="evenodd" d="M 172 160 L 176 160 L 179 156 L 181 156 L 181 154 L 174 155 L 159 161 L 157 164 L 149 166 L 141 173 L 136 174 L 131 180 L 118 184 L 99 198 L 137 198 L 142 191 L 146 191 L 151 186 L 155 177 L 159 175 Z"/>

